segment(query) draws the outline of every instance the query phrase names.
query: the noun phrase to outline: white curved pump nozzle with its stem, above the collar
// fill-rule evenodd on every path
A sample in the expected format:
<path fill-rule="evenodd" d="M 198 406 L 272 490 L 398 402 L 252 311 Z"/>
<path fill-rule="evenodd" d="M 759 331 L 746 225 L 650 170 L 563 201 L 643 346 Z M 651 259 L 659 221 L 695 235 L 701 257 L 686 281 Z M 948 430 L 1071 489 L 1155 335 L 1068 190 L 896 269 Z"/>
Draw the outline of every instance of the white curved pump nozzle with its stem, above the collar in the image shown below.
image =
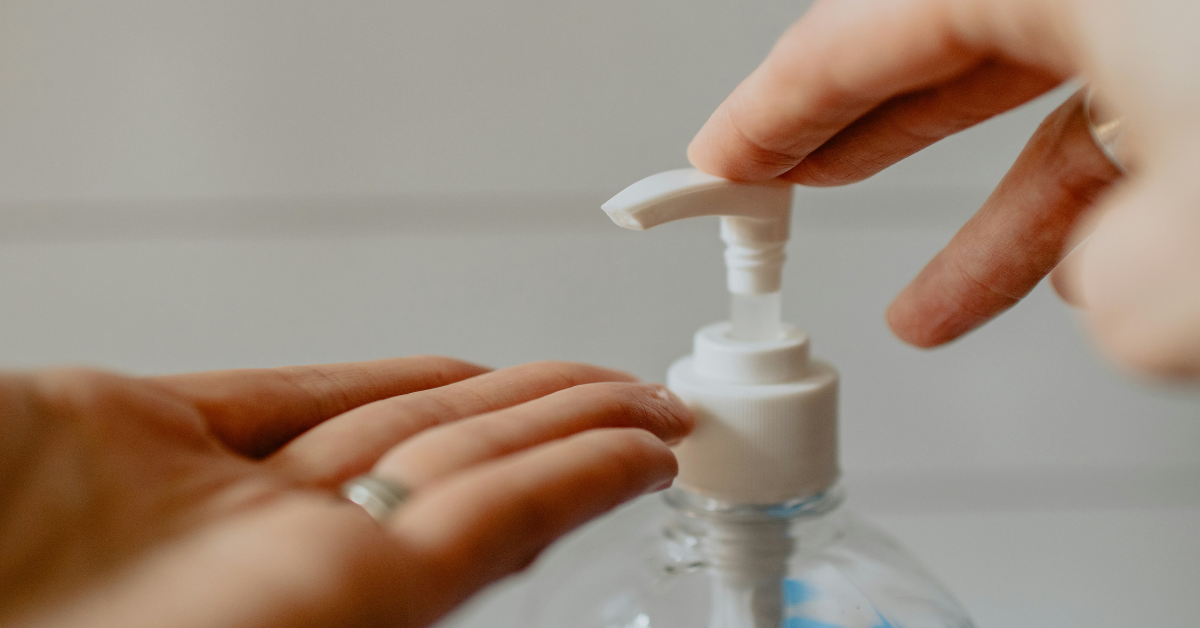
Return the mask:
<path fill-rule="evenodd" d="M 791 184 L 739 184 L 684 168 L 647 177 L 601 209 L 617 225 L 636 231 L 680 219 L 721 216 L 727 285 L 733 294 L 731 335 L 769 340 L 779 333 Z"/>

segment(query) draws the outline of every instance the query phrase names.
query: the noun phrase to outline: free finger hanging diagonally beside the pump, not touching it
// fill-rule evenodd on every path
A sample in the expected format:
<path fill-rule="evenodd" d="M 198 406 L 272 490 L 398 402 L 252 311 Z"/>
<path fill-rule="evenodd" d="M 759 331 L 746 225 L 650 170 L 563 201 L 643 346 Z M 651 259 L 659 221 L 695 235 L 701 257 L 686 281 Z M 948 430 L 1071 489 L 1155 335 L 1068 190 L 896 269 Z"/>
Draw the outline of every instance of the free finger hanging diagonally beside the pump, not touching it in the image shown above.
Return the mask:
<path fill-rule="evenodd" d="M 1038 127 L 983 208 L 895 298 L 892 330 L 949 342 L 1007 310 L 1061 259 L 1076 219 L 1121 173 L 1096 146 L 1076 94 Z"/>

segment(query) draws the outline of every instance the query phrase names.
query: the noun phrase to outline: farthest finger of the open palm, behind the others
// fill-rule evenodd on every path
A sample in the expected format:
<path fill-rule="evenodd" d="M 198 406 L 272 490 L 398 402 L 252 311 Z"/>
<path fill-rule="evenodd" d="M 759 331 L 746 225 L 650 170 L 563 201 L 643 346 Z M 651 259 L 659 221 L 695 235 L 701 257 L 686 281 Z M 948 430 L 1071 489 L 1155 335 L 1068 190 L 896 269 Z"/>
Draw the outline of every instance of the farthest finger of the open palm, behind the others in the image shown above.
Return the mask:
<path fill-rule="evenodd" d="M 239 369 L 146 378 L 192 403 L 235 451 L 265 456 L 331 417 L 379 399 L 487 372 L 464 361 L 418 355 L 386 360 Z"/>

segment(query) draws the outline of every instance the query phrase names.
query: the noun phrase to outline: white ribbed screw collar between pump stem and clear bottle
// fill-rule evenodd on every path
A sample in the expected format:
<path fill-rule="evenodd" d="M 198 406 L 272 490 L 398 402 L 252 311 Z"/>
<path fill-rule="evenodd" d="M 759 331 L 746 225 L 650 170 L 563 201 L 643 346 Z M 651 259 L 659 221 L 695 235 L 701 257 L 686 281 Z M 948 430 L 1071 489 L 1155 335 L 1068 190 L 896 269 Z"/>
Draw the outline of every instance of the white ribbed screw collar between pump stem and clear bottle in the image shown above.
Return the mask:
<path fill-rule="evenodd" d="M 696 333 L 667 387 L 696 413 L 676 447 L 677 483 L 731 503 L 770 504 L 823 492 L 838 479 L 838 372 L 809 360 L 809 337 L 745 342 L 728 323 Z"/>

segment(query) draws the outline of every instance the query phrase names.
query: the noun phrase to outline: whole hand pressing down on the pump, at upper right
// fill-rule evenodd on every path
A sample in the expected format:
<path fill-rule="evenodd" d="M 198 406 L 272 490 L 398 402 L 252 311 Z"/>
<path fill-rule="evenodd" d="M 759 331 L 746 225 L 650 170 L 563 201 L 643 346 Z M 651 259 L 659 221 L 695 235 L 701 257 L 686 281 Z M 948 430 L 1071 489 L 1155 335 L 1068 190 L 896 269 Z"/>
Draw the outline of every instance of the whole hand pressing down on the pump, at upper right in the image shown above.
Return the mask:
<path fill-rule="evenodd" d="M 1076 94 L 888 322 L 941 345 L 1057 267 L 1055 287 L 1117 360 L 1200 377 L 1198 20 L 1186 0 L 820 0 L 689 157 L 737 180 L 847 184 L 1081 77 L 1123 114 L 1132 173 L 1097 149 Z"/>

